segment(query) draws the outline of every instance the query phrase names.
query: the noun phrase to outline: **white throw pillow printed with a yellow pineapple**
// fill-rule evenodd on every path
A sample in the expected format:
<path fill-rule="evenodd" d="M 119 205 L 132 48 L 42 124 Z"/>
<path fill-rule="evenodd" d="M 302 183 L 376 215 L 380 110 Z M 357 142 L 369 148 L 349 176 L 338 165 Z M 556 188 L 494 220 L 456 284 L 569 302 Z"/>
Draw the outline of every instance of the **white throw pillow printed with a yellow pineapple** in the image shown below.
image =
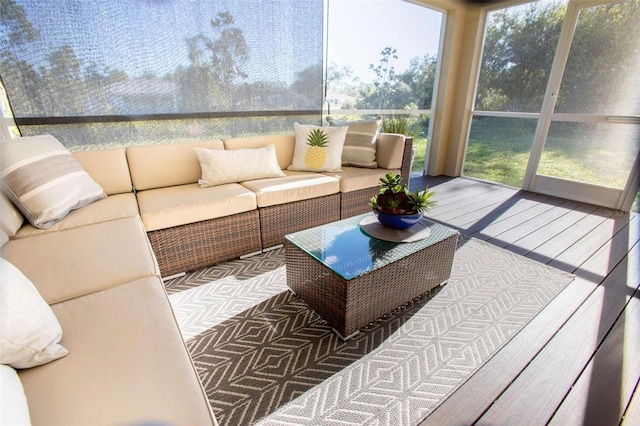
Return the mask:
<path fill-rule="evenodd" d="M 348 126 L 321 127 L 294 123 L 296 144 L 289 170 L 341 172 Z"/>

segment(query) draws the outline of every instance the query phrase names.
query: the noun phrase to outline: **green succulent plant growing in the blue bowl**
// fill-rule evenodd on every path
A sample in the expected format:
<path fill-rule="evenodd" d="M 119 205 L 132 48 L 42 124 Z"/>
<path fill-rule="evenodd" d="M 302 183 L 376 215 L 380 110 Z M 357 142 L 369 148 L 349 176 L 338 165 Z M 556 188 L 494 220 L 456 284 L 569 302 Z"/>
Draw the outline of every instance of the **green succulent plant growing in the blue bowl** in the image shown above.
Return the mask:
<path fill-rule="evenodd" d="M 435 194 L 426 187 L 422 191 L 410 191 L 402 183 L 400 175 L 387 173 L 380 178 L 380 193 L 371 198 L 372 208 L 391 214 L 416 214 L 426 212 L 435 205 Z"/>

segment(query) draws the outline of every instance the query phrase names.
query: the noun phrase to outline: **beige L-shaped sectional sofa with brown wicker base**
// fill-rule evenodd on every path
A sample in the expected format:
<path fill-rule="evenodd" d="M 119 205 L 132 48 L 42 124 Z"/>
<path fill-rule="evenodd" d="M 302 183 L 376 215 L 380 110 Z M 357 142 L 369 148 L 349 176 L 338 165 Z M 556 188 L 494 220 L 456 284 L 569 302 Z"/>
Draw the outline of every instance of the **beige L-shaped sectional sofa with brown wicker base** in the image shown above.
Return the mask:
<path fill-rule="evenodd" d="M 0 144 L 27 146 L 34 139 L 44 146 L 57 143 L 38 136 Z M 43 312 L 57 320 L 49 324 L 53 334 L 38 336 L 44 339 L 40 353 L 33 342 L 25 344 L 33 362 L 9 362 L 5 348 L 16 342 L 8 339 L 20 340 L 33 330 L 8 330 L 14 318 L 9 317 L 25 309 L 12 308 L 22 301 L 3 305 L 0 349 L 2 363 L 9 364 L 2 366 L 0 379 L 3 418 L 25 415 L 16 403 L 22 401 L 33 424 L 216 424 L 163 279 L 259 253 L 282 244 L 287 233 L 366 212 L 388 171 L 408 182 L 412 140 L 403 135 L 378 135 L 375 167 L 289 170 L 295 149 L 296 136 L 286 134 L 58 152 L 65 164 L 79 165 L 59 179 L 70 185 L 63 193 L 84 185 L 74 180 L 84 174 L 100 194 L 46 227 L 34 226 L 25 207 L 17 206 L 18 190 L 5 181 L 26 167 L 24 161 L 5 164 L 3 151 L 0 284 L 8 296 L 0 303 L 13 300 L 9 281 L 22 280 L 45 302 L 28 308 L 27 317 Z M 239 161 L 260 158 L 256 152 L 275 155 L 278 170 L 270 172 L 277 176 L 239 180 L 230 172 L 222 174 L 235 181 L 204 185 L 198 150 L 225 152 L 229 167 L 251 169 L 254 177 L 267 173 L 262 164 Z M 58 167 L 37 161 L 39 170 L 54 173 Z M 14 275 L 7 275 L 9 269 Z M 33 360 L 42 354 L 49 359 Z"/>

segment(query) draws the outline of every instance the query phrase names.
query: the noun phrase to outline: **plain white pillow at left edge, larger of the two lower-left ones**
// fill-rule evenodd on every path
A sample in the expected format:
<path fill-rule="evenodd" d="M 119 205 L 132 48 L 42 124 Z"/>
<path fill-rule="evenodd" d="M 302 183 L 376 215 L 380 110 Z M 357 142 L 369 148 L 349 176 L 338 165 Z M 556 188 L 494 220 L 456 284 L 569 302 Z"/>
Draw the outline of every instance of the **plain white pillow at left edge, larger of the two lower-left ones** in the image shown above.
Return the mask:
<path fill-rule="evenodd" d="M 62 328 L 33 283 L 0 258 L 0 364 L 30 368 L 67 355 Z"/>

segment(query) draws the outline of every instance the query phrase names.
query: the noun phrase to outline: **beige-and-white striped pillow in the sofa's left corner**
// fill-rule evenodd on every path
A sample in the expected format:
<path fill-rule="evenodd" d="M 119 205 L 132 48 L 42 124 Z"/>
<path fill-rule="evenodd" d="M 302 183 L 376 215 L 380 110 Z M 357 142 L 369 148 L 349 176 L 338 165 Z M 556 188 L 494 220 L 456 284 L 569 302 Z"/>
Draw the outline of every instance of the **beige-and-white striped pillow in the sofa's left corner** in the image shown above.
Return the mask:
<path fill-rule="evenodd" d="M 53 136 L 0 142 L 2 192 L 36 228 L 107 195 Z"/>

